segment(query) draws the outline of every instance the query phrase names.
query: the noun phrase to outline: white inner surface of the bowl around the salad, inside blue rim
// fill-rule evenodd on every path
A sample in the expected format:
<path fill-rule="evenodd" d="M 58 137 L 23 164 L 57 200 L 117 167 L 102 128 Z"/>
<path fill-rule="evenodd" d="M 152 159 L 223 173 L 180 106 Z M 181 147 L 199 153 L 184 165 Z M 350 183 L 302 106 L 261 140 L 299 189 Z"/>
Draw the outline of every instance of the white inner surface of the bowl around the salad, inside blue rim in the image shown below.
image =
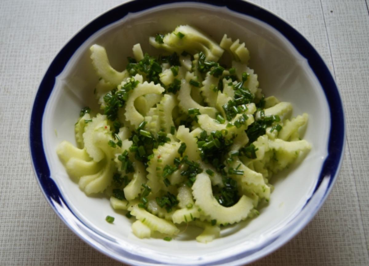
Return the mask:
<path fill-rule="evenodd" d="M 272 179 L 275 189 L 269 205 L 261 209 L 259 217 L 225 228 L 221 231 L 221 238 L 208 244 L 193 240 L 190 230 L 171 242 L 163 241 L 161 236 L 136 238 L 131 232 L 131 221 L 114 213 L 108 199 L 87 197 L 68 177 L 55 152 L 62 140 L 75 143 L 74 124 L 82 107 L 98 110 L 93 95 L 98 77 L 91 64 L 89 47 L 94 43 L 103 45 L 112 66 L 123 70 L 127 64 L 126 57 L 132 56 L 135 43 L 141 43 L 144 52 L 158 54 L 160 51 L 150 47 L 148 37 L 157 32 L 172 31 L 182 24 L 201 29 L 217 42 L 224 34 L 245 42 L 251 55 L 250 67 L 258 74 L 265 95 L 292 102 L 294 116 L 308 113 L 304 138 L 313 147 L 299 165 Z M 43 117 L 42 137 L 51 178 L 73 213 L 93 231 L 142 256 L 159 253 L 166 261 L 181 257 L 192 262 L 201 257 L 203 262 L 210 262 L 227 252 L 255 249 L 277 235 L 301 211 L 313 193 L 327 156 L 329 113 L 324 92 L 307 60 L 274 28 L 223 7 L 168 4 L 129 14 L 96 32 L 77 49 L 56 78 Z M 107 215 L 115 217 L 114 224 L 105 221 Z"/>

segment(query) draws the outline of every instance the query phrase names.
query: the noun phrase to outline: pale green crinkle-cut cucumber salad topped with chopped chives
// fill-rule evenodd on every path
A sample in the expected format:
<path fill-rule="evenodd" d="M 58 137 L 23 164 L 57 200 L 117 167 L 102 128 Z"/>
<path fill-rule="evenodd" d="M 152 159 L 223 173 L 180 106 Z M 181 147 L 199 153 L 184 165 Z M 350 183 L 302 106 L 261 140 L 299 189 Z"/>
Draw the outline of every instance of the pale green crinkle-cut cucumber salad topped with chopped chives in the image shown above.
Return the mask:
<path fill-rule="evenodd" d="M 300 136 L 308 115 L 291 117 L 291 103 L 262 94 L 239 39 L 218 44 L 181 25 L 149 43 L 160 55 L 138 43 L 122 72 L 90 47 L 100 111 L 83 108 L 76 146 L 62 141 L 57 154 L 87 196 L 125 210 L 138 238 L 169 241 L 187 224 L 206 243 L 268 204 L 273 174 L 311 149 Z"/>

